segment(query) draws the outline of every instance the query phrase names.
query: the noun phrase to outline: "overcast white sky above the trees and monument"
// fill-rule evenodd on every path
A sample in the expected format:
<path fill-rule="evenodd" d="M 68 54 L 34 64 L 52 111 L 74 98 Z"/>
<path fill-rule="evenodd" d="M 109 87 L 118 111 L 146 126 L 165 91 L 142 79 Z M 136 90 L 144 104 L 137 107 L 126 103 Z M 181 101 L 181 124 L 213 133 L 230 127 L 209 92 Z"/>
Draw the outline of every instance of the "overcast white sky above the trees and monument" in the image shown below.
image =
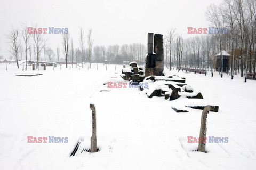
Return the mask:
<path fill-rule="evenodd" d="M 149 0 L 149 1 L 82 1 L 82 0 L 1 0 L 0 5 L 0 54 L 9 58 L 9 45 L 5 34 L 12 26 L 20 27 L 37 23 L 38 27 L 65 28 L 78 47 L 79 26 L 85 31 L 92 28 L 94 45 L 130 44 L 133 42 L 146 45 L 147 33 L 166 34 L 170 27 L 176 27 L 183 37 L 187 27 L 208 27 L 205 11 L 211 3 L 219 4 L 220 0 Z M 55 48 L 61 44 L 61 34 L 46 34 L 49 46 Z M 87 45 L 87 44 L 86 44 Z"/>

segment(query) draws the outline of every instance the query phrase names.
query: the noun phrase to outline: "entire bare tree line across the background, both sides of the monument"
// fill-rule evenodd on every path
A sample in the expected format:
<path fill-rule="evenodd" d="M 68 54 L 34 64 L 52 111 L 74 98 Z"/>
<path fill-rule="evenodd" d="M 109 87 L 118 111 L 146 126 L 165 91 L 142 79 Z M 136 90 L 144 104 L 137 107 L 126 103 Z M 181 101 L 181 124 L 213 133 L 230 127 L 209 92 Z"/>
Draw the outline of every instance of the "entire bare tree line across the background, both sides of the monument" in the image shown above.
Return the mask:
<path fill-rule="evenodd" d="M 231 75 L 244 72 L 255 72 L 255 25 L 256 3 L 254 0 L 222 0 L 220 5 L 211 4 L 205 12 L 209 27 L 228 30 L 227 34 L 217 31 L 215 34 L 201 34 L 184 38 L 170 28 L 164 35 L 164 62 L 169 67 L 188 67 L 195 69 L 213 69 L 216 62 L 215 54 L 225 50 L 231 54 Z M 26 24 L 21 29 L 14 28 L 6 35 L 10 45 L 10 58 L 18 61 L 39 60 L 79 63 L 92 62 L 122 64 L 124 62 L 145 62 L 146 45 L 131 43 L 123 45 L 94 45 L 92 29 L 84 35 L 84 29 L 78 29 L 79 39 L 74 40 L 70 33 L 62 34 L 62 46 L 55 49 L 47 45 L 43 34 L 27 34 Z M 73 42 L 78 41 L 78 47 Z M 22 42 L 22 45 L 21 45 Z M 62 52 L 62 53 L 61 53 Z M 63 58 L 61 57 L 63 56 Z M 38 64 L 37 64 L 38 65 Z M 73 67 L 73 65 L 72 65 Z M 26 66 L 27 69 L 27 66 Z M 222 74 L 222 71 L 221 71 Z"/>

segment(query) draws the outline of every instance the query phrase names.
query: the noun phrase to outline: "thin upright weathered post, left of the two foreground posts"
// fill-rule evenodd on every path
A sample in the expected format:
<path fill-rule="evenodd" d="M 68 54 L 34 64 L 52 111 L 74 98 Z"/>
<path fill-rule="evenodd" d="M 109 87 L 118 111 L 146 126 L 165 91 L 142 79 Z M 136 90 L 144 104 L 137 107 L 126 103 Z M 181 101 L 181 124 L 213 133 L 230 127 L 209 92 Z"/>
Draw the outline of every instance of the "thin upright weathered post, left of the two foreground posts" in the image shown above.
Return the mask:
<path fill-rule="evenodd" d="M 91 137 L 91 152 L 97 152 L 97 138 L 96 138 L 96 108 L 94 104 L 90 104 L 92 110 L 92 137 Z"/>

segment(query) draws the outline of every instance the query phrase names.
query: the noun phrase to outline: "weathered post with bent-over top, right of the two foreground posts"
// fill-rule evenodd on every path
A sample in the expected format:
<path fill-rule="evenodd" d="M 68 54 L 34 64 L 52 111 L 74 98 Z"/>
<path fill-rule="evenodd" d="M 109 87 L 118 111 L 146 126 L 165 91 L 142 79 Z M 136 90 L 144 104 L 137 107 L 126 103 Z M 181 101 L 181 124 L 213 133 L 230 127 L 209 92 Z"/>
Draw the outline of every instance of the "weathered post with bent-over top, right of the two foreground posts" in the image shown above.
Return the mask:
<path fill-rule="evenodd" d="M 204 110 L 202 112 L 202 117 L 201 117 L 201 127 L 200 127 L 200 134 L 199 134 L 199 139 L 202 140 L 201 143 L 198 144 L 198 151 L 199 152 L 204 152 L 205 153 L 205 143 L 206 143 L 206 120 L 207 120 L 207 114 L 209 111 L 213 112 L 218 112 L 219 107 L 218 106 L 206 106 L 204 107 Z"/>

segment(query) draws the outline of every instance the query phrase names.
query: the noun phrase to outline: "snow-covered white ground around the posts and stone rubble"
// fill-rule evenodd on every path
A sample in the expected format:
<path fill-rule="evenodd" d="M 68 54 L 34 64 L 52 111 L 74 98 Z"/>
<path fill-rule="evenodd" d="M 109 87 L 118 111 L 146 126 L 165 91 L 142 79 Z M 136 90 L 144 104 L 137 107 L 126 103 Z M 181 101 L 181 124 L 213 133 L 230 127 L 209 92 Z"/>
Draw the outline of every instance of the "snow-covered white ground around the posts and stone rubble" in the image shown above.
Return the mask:
<path fill-rule="evenodd" d="M 31 66 L 30 66 L 31 67 Z M 138 88 L 107 88 L 122 80 L 122 66 L 92 64 L 92 69 L 47 67 L 41 76 L 20 77 L 22 68 L 0 64 L 0 169 L 255 169 L 256 81 L 218 72 L 214 77 L 186 74 L 186 83 L 219 106 L 207 118 L 207 136 L 228 143 L 206 143 L 194 152 L 202 110 L 177 113 L 173 101 L 152 99 Z M 117 74 L 116 74 L 117 73 Z M 112 78 L 111 78 L 112 77 Z M 115 78 L 117 77 L 117 78 Z M 100 90 L 109 90 L 102 91 Z M 182 103 L 182 99 L 177 99 Z M 177 102 L 176 101 L 176 102 Z M 69 157 L 77 141 L 90 148 L 92 111 L 97 111 L 99 152 Z M 68 143 L 27 143 L 28 136 L 68 137 Z"/>

